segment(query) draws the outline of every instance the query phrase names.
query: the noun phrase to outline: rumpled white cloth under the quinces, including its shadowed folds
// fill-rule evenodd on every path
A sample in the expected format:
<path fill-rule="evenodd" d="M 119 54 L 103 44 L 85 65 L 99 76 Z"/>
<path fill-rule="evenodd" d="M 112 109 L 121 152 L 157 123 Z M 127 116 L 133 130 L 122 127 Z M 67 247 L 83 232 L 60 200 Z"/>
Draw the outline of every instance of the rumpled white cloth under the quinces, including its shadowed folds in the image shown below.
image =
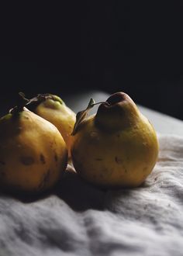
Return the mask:
<path fill-rule="evenodd" d="M 0 255 L 183 255 L 183 137 L 159 141 L 140 188 L 103 191 L 68 171 L 40 199 L 0 195 Z"/>

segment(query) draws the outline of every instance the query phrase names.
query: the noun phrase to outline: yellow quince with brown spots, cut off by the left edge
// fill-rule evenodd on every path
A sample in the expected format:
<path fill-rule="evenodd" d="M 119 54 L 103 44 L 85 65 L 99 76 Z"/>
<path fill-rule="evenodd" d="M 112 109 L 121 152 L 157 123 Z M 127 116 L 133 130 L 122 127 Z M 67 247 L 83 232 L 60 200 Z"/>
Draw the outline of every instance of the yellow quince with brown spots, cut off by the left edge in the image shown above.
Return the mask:
<path fill-rule="evenodd" d="M 57 128 L 28 109 L 0 119 L 0 187 L 42 192 L 67 166 L 67 147 Z"/>

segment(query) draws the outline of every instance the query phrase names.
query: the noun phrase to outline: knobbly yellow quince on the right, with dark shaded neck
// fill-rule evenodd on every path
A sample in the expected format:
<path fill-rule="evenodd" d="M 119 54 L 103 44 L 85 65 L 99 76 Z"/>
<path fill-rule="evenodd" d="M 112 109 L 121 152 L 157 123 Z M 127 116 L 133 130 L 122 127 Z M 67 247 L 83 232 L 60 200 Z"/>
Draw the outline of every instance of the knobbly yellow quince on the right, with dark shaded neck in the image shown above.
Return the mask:
<path fill-rule="evenodd" d="M 75 170 L 102 187 L 136 187 L 153 170 L 158 155 L 154 127 L 123 92 L 118 92 L 85 119 L 74 135 Z"/>

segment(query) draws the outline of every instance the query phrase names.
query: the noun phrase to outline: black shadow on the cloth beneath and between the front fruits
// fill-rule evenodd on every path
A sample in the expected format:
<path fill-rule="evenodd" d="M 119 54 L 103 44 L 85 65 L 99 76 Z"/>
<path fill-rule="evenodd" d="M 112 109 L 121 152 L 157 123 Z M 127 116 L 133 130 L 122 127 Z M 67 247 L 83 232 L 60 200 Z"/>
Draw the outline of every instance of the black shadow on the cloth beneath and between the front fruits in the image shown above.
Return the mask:
<path fill-rule="evenodd" d="M 71 209 L 83 211 L 86 209 L 104 209 L 105 195 L 107 191 L 98 189 L 94 185 L 85 182 L 74 171 L 70 164 L 63 177 L 54 186 L 53 189 L 39 194 L 29 194 L 22 192 L 2 191 L 3 196 L 11 196 L 23 203 L 31 203 L 47 199 L 50 195 L 57 195 L 61 200 L 67 203 Z"/>

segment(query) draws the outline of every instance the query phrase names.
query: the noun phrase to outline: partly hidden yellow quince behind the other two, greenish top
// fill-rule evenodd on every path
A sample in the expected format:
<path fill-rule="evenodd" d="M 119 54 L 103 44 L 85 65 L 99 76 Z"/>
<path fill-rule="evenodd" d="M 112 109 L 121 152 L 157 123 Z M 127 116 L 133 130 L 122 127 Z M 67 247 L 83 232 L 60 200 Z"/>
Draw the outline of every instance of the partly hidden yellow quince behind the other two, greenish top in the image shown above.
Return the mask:
<path fill-rule="evenodd" d="M 57 95 L 50 95 L 43 102 L 40 102 L 34 112 L 47 119 L 60 131 L 67 145 L 68 155 L 71 156 L 71 132 L 74 128 L 75 113 L 69 109 Z"/>

